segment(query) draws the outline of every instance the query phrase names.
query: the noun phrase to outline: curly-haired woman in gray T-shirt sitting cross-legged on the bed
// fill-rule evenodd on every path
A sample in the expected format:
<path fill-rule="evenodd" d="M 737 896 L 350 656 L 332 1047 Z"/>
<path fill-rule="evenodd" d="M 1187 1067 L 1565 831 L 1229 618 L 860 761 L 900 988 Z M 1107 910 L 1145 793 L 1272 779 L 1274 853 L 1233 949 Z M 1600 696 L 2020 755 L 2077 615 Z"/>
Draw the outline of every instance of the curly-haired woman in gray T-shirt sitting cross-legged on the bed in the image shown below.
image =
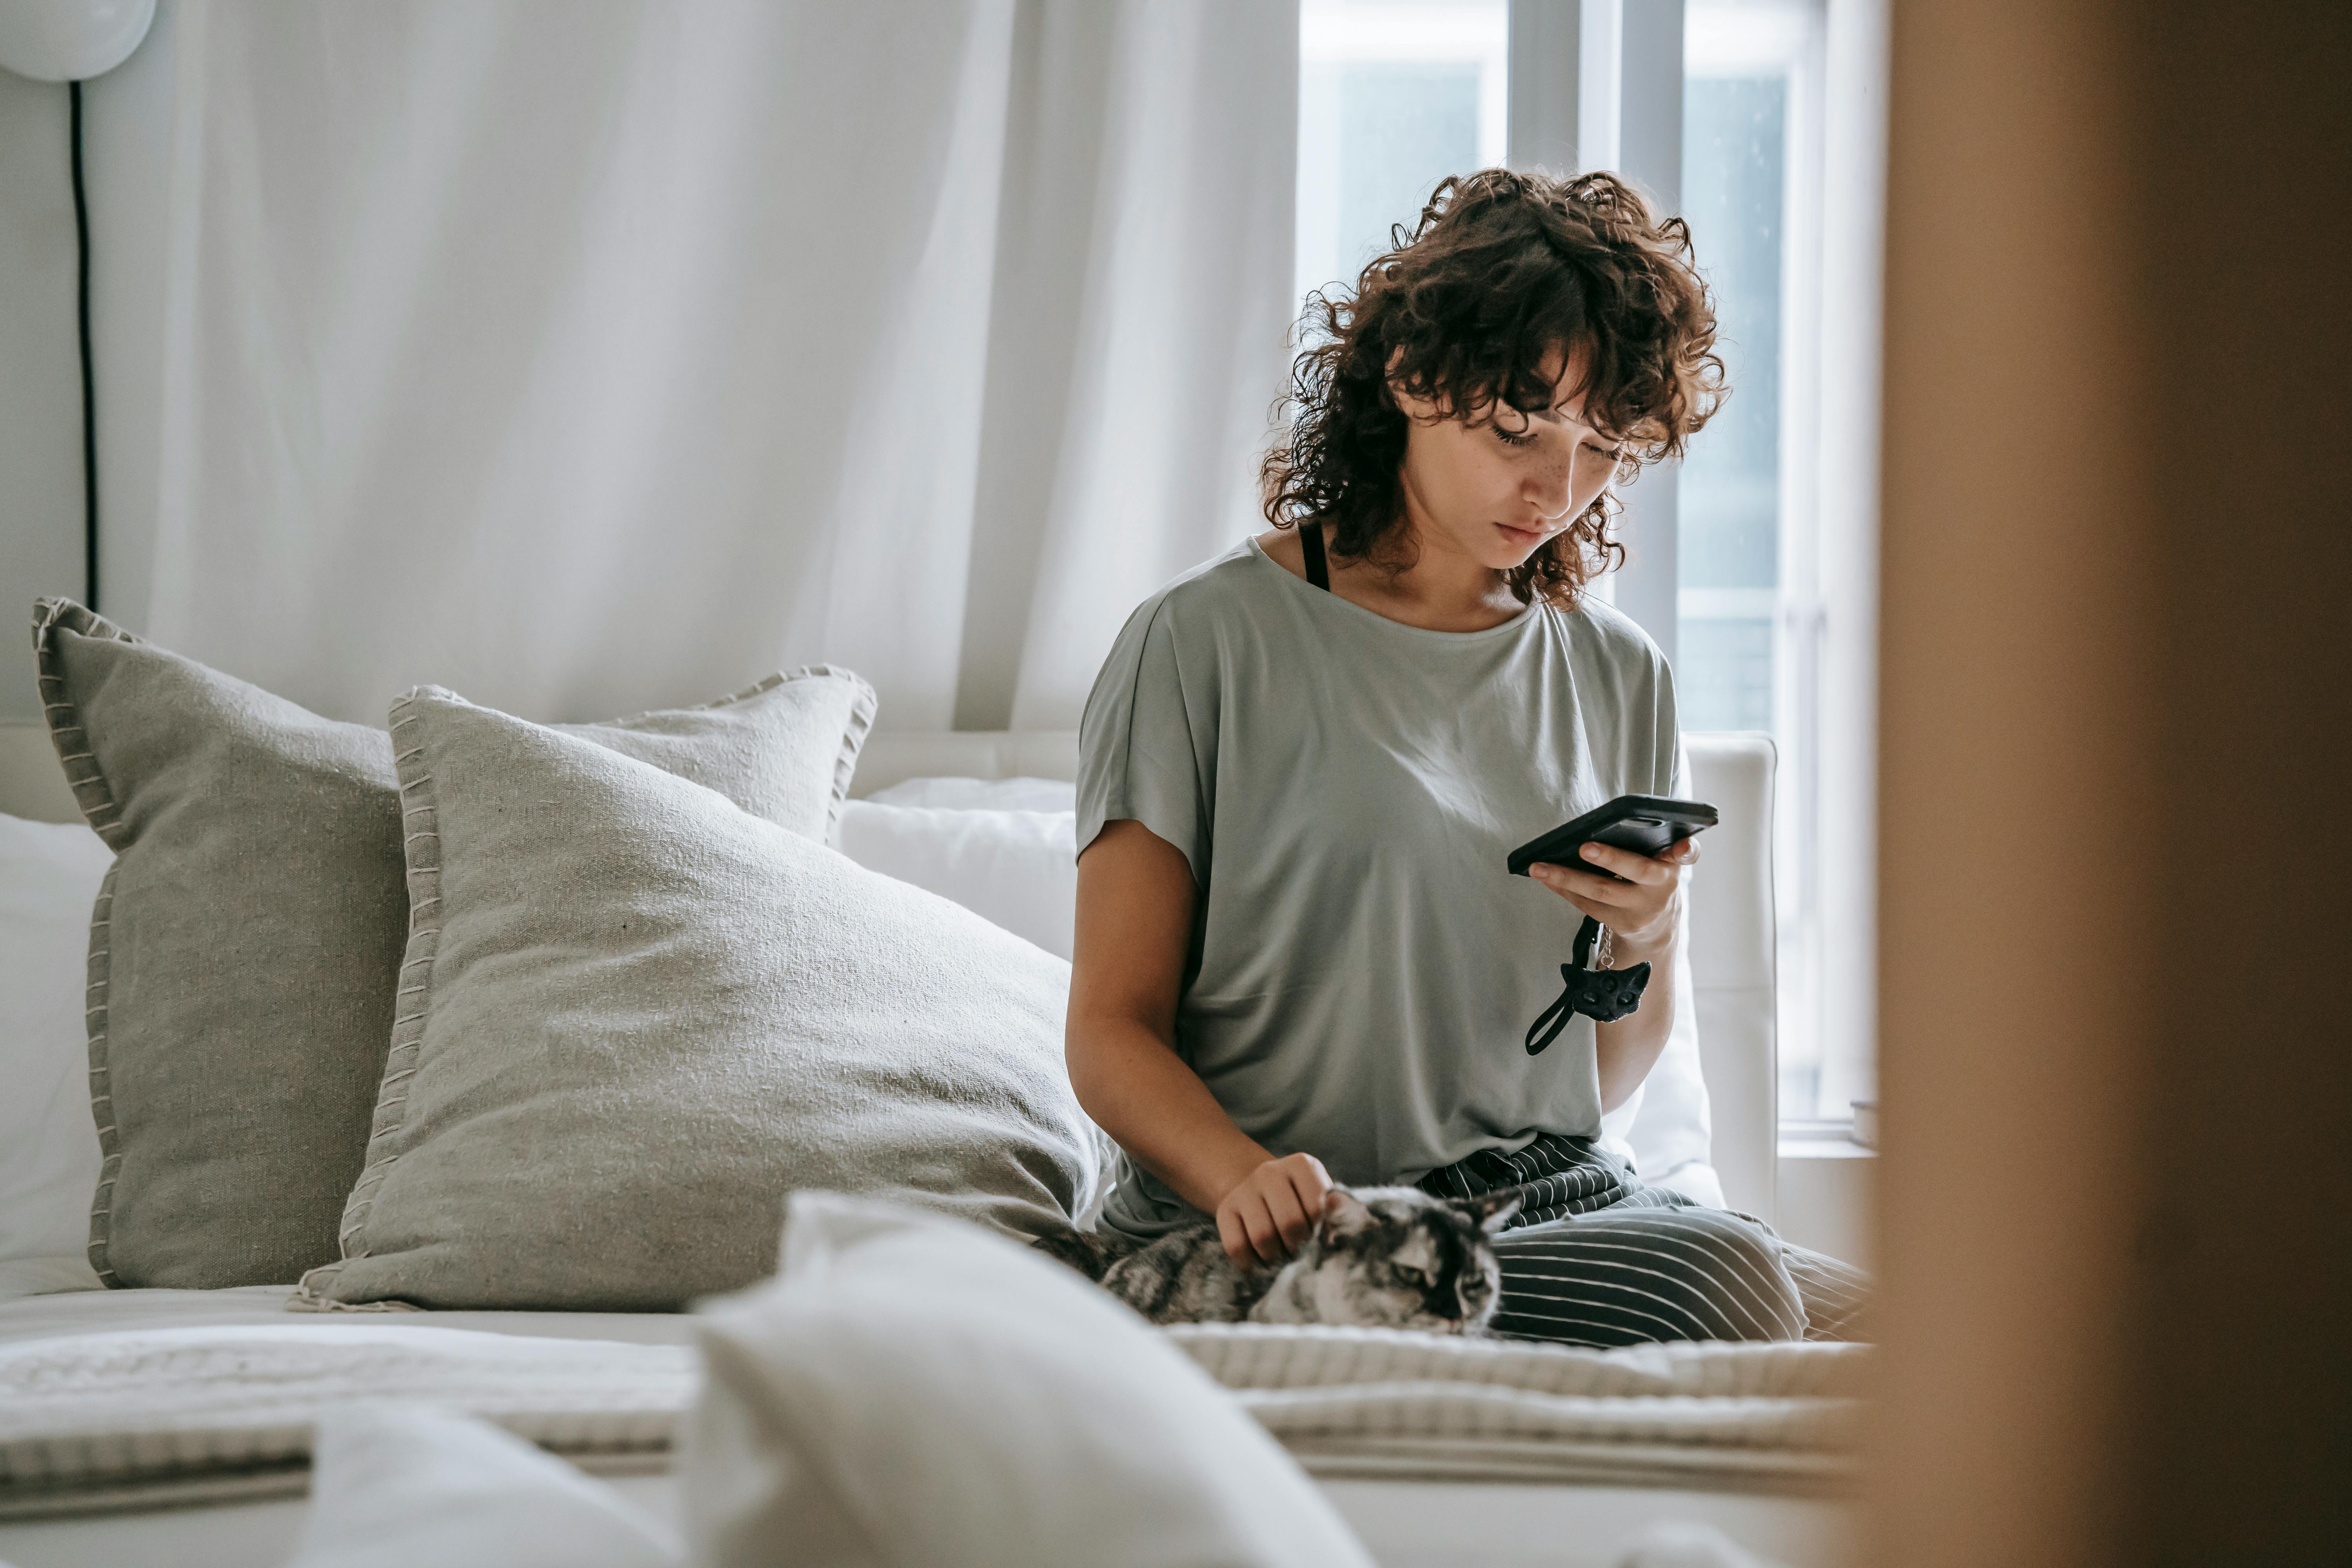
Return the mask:
<path fill-rule="evenodd" d="M 1534 1182 L 1503 1333 L 1842 1333 L 1851 1269 L 1599 1145 L 1686 992 L 1698 846 L 1503 872 L 1616 795 L 1689 792 L 1665 658 L 1585 592 L 1623 562 L 1611 484 L 1722 395 L 1689 230 L 1609 174 L 1489 169 L 1317 313 L 1272 531 L 1136 609 L 1087 701 L 1068 1058 L 1124 1150 L 1103 1222 L 1216 1215 L 1277 1262 L 1334 1182 Z M 1529 1056 L 1585 914 L 1658 983 Z"/>

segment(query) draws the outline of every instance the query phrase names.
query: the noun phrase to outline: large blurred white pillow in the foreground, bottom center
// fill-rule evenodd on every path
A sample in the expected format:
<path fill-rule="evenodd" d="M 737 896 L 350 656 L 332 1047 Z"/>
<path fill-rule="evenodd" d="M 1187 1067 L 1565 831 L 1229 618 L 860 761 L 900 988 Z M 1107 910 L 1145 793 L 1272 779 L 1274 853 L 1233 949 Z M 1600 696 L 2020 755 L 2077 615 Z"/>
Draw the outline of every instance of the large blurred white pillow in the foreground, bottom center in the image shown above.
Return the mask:
<path fill-rule="evenodd" d="M 797 1192 L 781 1274 L 710 1312 L 703 1359 L 696 1563 L 1371 1561 L 1174 1342 L 971 1225 Z"/>

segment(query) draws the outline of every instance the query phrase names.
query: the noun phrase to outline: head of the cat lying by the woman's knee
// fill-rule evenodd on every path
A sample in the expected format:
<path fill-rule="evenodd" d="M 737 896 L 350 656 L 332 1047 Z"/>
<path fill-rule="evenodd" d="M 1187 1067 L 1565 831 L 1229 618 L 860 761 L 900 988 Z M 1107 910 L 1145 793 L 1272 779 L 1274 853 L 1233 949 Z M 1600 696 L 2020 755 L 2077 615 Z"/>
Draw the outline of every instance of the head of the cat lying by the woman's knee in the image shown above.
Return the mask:
<path fill-rule="evenodd" d="M 1482 1333 L 1503 1272 L 1494 1234 L 1519 1190 L 1437 1199 L 1418 1187 L 1334 1187 L 1301 1248 L 1298 1295 L 1319 1324 Z"/>

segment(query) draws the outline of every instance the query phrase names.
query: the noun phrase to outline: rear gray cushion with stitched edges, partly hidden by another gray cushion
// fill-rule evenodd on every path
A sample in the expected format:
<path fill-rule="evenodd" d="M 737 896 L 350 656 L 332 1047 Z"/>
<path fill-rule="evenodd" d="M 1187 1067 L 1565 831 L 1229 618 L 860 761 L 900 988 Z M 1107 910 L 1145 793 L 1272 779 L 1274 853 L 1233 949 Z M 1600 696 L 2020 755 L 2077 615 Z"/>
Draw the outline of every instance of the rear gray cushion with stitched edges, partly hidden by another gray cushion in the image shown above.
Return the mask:
<path fill-rule="evenodd" d="M 285 1284 L 336 1258 L 393 1032 L 409 900 L 393 745 L 139 642 L 33 621 L 66 778 L 115 851 L 92 917 L 89 1081 L 106 1284 Z M 579 726 L 823 837 L 873 691 L 771 677 Z"/>

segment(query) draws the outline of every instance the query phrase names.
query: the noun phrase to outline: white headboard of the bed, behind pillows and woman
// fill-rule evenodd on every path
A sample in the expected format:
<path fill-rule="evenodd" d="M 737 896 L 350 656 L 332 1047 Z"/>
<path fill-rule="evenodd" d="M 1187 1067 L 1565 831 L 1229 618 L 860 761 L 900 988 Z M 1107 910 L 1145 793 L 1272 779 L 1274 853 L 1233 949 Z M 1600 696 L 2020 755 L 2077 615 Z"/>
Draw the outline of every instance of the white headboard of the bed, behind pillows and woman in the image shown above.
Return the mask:
<path fill-rule="evenodd" d="M 1691 788 L 1722 809 L 1691 886 L 1691 980 L 1698 1053 L 1715 1112 L 1715 1171 L 1724 1197 L 1764 1220 L 1776 1208 L 1778 1037 L 1771 889 L 1773 745 L 1755 733 L 1684 736 Z M 1075 778 L 1077 736 L 875 733 L 851 795 L 901 778 Z M 45 823 L 78 818 L 40 724 L 0 724 L 0 811 Z"/>

